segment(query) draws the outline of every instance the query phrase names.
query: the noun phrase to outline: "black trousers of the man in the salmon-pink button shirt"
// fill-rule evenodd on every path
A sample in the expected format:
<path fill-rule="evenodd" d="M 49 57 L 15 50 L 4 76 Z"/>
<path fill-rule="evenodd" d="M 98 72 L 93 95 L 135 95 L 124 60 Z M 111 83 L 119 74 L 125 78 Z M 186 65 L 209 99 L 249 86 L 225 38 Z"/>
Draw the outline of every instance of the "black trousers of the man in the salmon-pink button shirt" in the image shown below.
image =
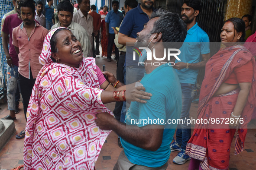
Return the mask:
<path fill-rule="evenodd" d="M 25 114 L 25 118 L 27 120 L 27 109 L 29 106 L 29 99 L 30 96 L 32 94 L 32 89 L 35 85 L 36 79 L 33 79 L 32 73 L 30 71 L 30 77 L 31 79 L 27 79 L 26 77 L 22 76 L 21 74 L 19 74 L 19 79 L 18 79 L 18 85 L 19 85 L 19 89 L 20 89 L 20 93 L 22 95 L 23 98 L 23 110 L 24 110 L 24 114 Z"/>

